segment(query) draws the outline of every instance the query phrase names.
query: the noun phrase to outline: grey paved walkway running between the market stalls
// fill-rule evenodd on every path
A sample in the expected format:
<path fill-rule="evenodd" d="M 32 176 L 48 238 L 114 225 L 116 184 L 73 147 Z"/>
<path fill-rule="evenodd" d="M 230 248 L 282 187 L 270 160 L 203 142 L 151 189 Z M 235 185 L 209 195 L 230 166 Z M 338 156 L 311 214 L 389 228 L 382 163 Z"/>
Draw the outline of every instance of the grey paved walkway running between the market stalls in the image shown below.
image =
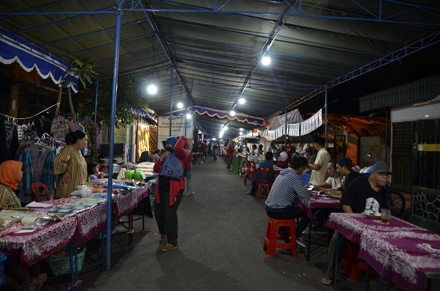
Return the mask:
<path fill-rule="evenodd" d="M 263 239 L 267 226 L 264 201 L 245 195 L 250 185 L 226 171 L 212 157 L 192 171 L 195 195 L 179 206 L 179 248 L 162 252 L 155 220 L 146 217 L 146 231 L 135 222 L 134 243 L 127 235 L 112 239 L 112 268 L 80 273 L 80 290 L 331 290 L 320 283 L 327 268 L 327 248 L 307 262 L 277 251 L 267 258 Z M 124 229 L 118 226 L 118 232 Z M 86 264 L 98 257 L 98 241 L 87 243 Z M 59 290 L 68 277 L 48 281 L 43 290 Z M 344 286 L 342 290 L 362 290 Z M 388 290 L 389 288 L 384 288 Z"/>

